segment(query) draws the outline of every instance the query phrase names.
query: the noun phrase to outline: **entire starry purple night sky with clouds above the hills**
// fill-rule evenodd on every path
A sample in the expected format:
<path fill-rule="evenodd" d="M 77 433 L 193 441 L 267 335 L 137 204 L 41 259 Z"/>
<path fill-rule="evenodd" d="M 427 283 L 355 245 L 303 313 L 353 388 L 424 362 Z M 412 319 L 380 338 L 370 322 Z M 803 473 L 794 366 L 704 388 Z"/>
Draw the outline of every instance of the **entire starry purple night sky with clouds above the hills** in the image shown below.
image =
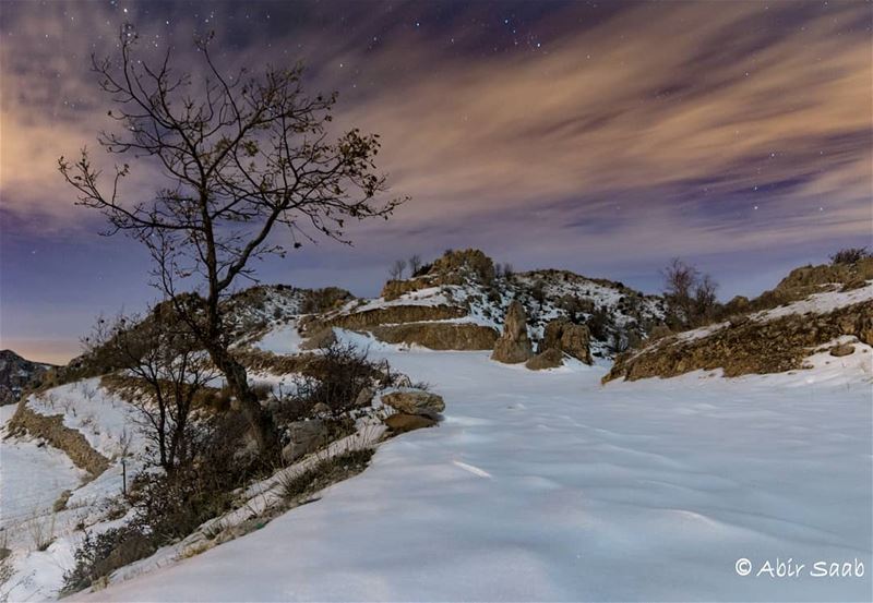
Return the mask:
<path fill-rule="evenodd" d="M 124 22 L 180 70 L 207 31 L 228 70 L 302 60 L 337 126 L 382 135 L 412 201 L 265 282 L 374 294 L 395 257 L 475 246 L 649 292 L 682 256 L 727 299 L 871 242 L 869 2 L 3 1 L 0 21 L 0 346 L 37 360 L 157 297 L 145 252 L 100 238 L 57 172 L 110 125 L 89 56 Z"/>

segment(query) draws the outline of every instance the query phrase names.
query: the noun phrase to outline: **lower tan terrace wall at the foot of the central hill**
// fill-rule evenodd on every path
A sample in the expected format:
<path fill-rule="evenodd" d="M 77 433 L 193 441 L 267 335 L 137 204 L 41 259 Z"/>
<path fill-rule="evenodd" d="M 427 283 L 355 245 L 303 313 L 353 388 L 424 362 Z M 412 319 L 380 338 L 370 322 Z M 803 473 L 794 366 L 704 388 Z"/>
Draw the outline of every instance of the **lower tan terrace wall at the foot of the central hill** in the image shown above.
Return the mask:
<path fill-rule="evenodd" d="M 471 323 L 382 325 L 371 333 L 386 343 L 418 345 L 431 350 L 490 350 L 498 340 L 493 328 Z"/>

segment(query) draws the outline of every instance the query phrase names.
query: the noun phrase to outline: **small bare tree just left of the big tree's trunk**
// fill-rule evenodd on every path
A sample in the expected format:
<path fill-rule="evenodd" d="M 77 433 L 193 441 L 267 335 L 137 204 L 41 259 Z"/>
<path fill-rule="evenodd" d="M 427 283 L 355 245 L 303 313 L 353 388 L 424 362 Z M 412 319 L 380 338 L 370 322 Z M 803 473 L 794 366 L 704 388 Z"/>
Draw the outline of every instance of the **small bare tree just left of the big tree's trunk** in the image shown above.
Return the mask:
<path fill-rule="evenodd" d="M 162 304 L 145 319 L 100 317 L 83 343 L 87 354 L 99 354 L 105 365 L 135 379 L 142 395 L 131 403 L 143 435 L 156 446 L 158 465 L 172 472 L 190 460 L 194 396 L 217 372 L 175 309 Z"/>

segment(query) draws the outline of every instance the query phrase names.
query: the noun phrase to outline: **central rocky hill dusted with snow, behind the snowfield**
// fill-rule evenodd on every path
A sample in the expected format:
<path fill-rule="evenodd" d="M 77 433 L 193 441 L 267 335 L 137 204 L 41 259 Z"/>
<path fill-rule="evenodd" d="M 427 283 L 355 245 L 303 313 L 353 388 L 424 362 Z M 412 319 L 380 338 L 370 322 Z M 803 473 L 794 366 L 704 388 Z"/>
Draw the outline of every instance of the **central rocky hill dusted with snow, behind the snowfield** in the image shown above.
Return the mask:
<path fill-rule="evenodd" d="M 661 324 L 663 300 L 622 284 L 567 270 L 499 274 L 478 250 L 450 251 L 406 280 L 390 280 L 379 298 L 349 301 L 302 323 L 360 329 L 388 343 L 430 349 L 492 349 L 510 303 L 525 309 L 529 336 L 543 338 L 552 321 L 588 329 L 594 357 L 608 359 Z"/>

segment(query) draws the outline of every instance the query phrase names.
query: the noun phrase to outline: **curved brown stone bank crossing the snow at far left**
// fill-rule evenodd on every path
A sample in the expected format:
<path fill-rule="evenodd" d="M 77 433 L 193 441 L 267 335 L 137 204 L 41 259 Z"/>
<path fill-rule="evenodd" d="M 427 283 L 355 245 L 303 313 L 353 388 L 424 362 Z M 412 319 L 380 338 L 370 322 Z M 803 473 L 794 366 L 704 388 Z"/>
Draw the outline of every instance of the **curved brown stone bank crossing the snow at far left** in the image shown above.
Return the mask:
<path fill-rule="evenodd" d="M 39 414 L 29 409 L 24 400 L 19 403 L 9 423 L 9 430 L 15 435 L 28 433 L 45 439 L 53 447 L 63 450 L 76 467 L 92 475 L 99 475 L 109 467 L 109 459 L 92 448 L 84 435 L 63 424 L 63 415 Z"/>

